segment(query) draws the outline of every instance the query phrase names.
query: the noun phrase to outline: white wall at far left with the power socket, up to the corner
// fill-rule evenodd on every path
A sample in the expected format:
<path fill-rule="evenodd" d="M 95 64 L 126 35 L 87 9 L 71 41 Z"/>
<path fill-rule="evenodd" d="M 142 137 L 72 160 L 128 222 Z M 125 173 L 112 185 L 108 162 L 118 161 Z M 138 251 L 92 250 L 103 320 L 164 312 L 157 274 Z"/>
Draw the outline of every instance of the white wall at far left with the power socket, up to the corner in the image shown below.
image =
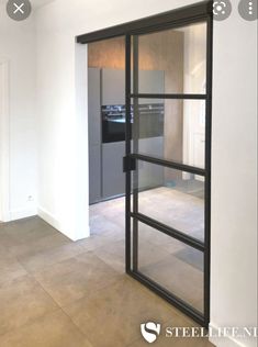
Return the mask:
<path fill-rule="evenodd" d="M 25 22 L 12 21 L 0 4 L 0 61 L 8 61 L 9 74 L 9 202 L 4 221 L 36 214 L 36 117 L 35 117 L 35 30 L 33 16 Z M 0 122 L 3 124 L 3 120 Z M 5 134 L 7 135 L 7 134 Z M 7 145 L 7 144 L 5 144 Z M 0 163 L 1 165 L 1 163 Z M 1 171 L 1 170 L 0 170 Z M 0 187 L 1 189 L 1 187 Z M 0 194 L 2 192 L 0 191 Z M 32 197 L 33 201 L 29 201 Z"/>

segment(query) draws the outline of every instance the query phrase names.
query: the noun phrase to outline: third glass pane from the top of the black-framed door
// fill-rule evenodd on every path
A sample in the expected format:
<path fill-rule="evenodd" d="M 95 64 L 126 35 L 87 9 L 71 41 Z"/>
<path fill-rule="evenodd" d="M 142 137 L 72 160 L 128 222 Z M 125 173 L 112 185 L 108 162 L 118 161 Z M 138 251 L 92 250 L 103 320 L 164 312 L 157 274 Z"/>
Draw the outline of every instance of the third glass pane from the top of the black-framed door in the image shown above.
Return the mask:
<path fill-rule="evenodd" d="M 134 203 L 138 213 L 204 242 L 204 186 L 194 175 L 137 160 Z"/>

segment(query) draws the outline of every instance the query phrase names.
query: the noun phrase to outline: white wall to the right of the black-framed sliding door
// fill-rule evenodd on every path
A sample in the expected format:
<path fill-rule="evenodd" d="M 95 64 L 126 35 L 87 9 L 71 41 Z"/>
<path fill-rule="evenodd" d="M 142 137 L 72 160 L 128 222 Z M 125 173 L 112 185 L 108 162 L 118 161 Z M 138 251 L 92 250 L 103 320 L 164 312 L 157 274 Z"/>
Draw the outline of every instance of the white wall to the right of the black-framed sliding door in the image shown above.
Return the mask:
<path fill-rule="evenodd" d="M 257 326 L 257 21 L 236 4 L 215 22 L 213 77 L 211 324 Z"/>

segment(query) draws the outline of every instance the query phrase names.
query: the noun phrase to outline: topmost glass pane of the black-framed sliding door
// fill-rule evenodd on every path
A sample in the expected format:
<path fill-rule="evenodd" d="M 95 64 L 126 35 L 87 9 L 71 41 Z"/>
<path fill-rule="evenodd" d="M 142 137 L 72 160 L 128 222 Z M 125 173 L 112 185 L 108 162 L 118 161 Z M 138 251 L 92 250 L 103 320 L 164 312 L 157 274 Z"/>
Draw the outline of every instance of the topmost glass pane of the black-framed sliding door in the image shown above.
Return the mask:
<path fill-rule="evenodd" d="M 134 91 L 205 93 L 206 23 L 139 35 L 134 43 L 138 48 Z"/>

